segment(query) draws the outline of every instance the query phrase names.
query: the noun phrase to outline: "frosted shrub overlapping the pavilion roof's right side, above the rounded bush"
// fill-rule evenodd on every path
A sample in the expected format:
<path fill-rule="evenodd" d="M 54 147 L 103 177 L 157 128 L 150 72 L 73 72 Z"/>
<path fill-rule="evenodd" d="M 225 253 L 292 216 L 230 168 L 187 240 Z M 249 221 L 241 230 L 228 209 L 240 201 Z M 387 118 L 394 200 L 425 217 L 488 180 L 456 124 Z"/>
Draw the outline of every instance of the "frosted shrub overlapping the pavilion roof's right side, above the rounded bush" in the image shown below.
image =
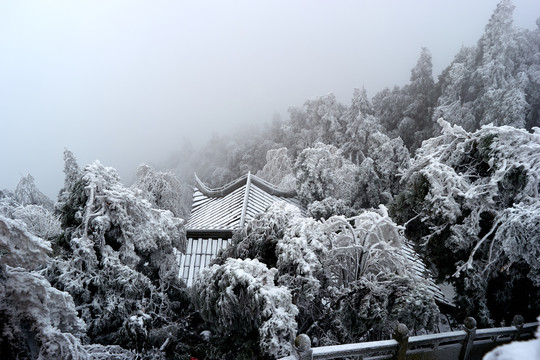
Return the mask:
<path fill-rule="evenodd" d="M 276 281 L 290 290 L 302 327 L 318 316 L 313 301 L 317 301 L 321 288 L 321 241 L 325 237 L 320 222 L 303 218 L 298 208 L 287 202 L 276 202 L 249 221 L 215 263 L 234 257 L 257 259 L 276 268 Z"/>

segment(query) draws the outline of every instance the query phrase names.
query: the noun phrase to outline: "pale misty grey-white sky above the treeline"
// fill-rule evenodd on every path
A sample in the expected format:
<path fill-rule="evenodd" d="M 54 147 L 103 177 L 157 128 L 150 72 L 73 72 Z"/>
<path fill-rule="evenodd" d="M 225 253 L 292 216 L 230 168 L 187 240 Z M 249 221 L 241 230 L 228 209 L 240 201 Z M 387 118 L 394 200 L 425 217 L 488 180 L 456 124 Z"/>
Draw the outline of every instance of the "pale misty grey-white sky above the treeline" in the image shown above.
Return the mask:
<path fill-rule="evenodd" d="M 437 76 L 497 2 L 0 0 L 0 189 L 31 173 L 54 199 L 64 148 L 129 185 L 186 139 L 401 86 L 423 46 Z M 513 3 L 536 28 L 540 1 Z"/>

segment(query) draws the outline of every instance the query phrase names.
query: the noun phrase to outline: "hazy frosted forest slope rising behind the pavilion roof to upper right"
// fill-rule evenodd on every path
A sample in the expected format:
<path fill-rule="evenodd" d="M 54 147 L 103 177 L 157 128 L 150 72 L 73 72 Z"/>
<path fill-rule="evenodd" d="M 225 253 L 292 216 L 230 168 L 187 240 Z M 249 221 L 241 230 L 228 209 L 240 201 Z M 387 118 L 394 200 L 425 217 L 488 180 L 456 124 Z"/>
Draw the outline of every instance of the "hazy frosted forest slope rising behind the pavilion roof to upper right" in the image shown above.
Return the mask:
<path fill-rule="evenodd" d="M 267 159 L 268 150 L 286 148 L 292 167 L 303 150 L 323 143 L 365 171 L 373 168 L 382 182 L 392 182 L 377 166 L 386 170 L 381 162 L 390 161 L 403 167 L 403 147 L 414 157 L 422 141 L 441 134 L 440 117 L 467 131 L 487 124 L 531 130 L 540 124 L 540 30 L 513 27 L 513 8 L 501 2 L 477 45 L 463 47 L 437 81 L 431 53 L 423 48 L 409 84 L 384 89 L 371 99 L 364 89 L 355 89 L 349 105 L 333 94 L 321 95 L 290 108 L 286 120 L 215 135 L 200 152 L 189 149 L 178 157 L 179 175 L 189 178 L 195 170 L 205 182 L 223 185 L 276 164 Z"/>

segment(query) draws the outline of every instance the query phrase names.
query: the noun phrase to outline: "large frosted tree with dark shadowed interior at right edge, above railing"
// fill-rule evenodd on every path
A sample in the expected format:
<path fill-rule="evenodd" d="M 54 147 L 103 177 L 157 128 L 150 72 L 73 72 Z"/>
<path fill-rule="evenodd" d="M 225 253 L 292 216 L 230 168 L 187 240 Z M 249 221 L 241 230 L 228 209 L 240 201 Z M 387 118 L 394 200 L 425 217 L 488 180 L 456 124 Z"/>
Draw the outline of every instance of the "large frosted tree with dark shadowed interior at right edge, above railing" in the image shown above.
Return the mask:
<path fill-rule="evenodd" d="M 443 135 L 417 151 L 393 205 L 463 315 L 483 324 L 540 311 L 540 133 L 444 120 Z"/>

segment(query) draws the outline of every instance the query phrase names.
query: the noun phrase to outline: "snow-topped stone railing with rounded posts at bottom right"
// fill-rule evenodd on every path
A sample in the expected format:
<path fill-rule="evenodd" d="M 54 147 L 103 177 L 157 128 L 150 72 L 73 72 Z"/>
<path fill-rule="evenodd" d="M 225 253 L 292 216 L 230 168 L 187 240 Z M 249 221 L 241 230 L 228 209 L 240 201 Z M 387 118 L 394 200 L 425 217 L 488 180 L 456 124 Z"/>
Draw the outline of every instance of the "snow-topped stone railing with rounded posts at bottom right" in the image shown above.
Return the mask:
<path fill-rule="evenodd" d="M 439 334 L 409 337 L 409 330 L 399 324 L 393 340 L 370 341 L 357 344 L 321 346 L 311 348 L 311 340 L 305 334 L 295 340 L 294 354 L 278 360 L 338 359 L 358 356 L 361 359 L 480 359 L 495 346 L 512 340 L 528 339 L 534 336 L 538 323 L 523 323 L 523 317 L 516 315 L 512 326 L 476 329 L 476 320 L 468 317 L 463 330 Z"/>

